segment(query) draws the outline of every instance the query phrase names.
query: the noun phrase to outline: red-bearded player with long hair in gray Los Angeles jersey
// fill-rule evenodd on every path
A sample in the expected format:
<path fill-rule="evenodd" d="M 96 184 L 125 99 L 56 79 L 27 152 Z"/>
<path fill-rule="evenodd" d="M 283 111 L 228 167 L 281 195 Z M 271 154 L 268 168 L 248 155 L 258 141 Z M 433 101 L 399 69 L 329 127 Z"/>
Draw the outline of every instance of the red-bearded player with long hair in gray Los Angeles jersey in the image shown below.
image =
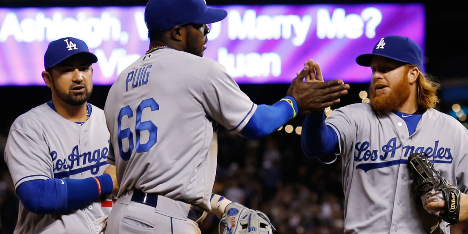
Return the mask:
<path fill-rule="evenodd" d="M 433 109 L 439 84 L 422 72 L 421 48 L 410 38 L 379 38 L 356 62 L 372 69 L 371 102 L 344 106 L 326 120 L 322 111 L 307 115 L 301 135 L 306 155 L 329 163 L 342 157 L 344 233 L 450 233 L 414 193 L 407 163 L 411 154 L 428 154 L 466 193 L 467 129 Z M 320 67 L 311 66 L 317 77 L 308 81 L 322 82 Z M 462 194 L 460 220 L 468 216 L 467 201 Z"/>

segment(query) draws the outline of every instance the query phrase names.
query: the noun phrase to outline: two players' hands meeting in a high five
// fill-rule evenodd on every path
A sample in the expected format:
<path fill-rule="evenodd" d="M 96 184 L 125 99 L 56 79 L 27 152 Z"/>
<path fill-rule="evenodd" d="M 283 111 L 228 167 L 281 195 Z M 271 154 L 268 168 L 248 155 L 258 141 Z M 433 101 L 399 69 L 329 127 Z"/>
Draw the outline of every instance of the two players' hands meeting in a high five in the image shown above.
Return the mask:
<path fill-rule="evenodd" d="M 292 80 L 287 95 L 296 100 L 299 106 L 298 115 L 305 115 L 339 103 L 339 97 L 348 94 L 349 88 L 343 80 L 323 81 L 320 66 L 309 59 L 304 64 L 304 69 Z"/>

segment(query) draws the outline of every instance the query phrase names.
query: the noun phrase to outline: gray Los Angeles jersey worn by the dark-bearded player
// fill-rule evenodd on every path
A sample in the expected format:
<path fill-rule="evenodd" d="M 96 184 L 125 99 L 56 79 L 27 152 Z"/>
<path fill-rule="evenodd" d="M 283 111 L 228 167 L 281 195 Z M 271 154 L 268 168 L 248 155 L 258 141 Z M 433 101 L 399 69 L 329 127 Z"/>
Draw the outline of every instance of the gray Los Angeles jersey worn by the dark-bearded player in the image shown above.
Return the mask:
<path fill-rule="evenodd" d="M 44 103 L 16 118 L 5 148 L 5 161 L 15 190 L 30 180 L 84 179 L 102 175 L 109 166 L 109 132 L 103 110 L 88 104 L 89 119 L 82 125 L 60 116 Z M 94 220 L 110 214 L 112 201 L 96 200 L 79 210 L 40 215 L 20 203 L 18 234 L 92 234 Z"/>

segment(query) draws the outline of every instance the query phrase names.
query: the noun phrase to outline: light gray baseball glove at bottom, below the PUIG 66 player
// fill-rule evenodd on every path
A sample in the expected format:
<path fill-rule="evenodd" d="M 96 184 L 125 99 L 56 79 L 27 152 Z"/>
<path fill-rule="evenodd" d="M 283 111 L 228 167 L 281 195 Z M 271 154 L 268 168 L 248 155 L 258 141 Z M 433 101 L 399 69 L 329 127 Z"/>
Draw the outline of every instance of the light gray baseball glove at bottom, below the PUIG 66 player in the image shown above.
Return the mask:
<path fill-rule="evenodd" d="M 237 202 L 224 209 L 219 221 L 219 234 L 272 234 L 275 227 L 263 212 L 249 209 Z"/>

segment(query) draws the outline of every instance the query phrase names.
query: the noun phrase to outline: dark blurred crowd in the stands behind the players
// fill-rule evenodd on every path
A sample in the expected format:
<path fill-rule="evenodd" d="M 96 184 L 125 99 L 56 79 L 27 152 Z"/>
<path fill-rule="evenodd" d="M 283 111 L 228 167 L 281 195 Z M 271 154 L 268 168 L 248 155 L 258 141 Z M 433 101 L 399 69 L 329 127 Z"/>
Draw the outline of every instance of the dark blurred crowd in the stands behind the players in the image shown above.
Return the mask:
<path fill-rule="evenodd" d="M 3 155 L 7 132 L 0 134 Z M 341 161 L 323 164 L 304 156 L 300 136 L 278 131 L 248 140 L 219 131 L 218 169 L 213 192 L 266 213 L 275 234 L 343 234 L 344 193 Z M 11 234 L 18 198 L 5 162 L 0 161 L 0 234 Z M 202 234 L 218 234 L 219 219 L 209 214 Z M 452 234 L 468 233 L 468 223 Z"/>

